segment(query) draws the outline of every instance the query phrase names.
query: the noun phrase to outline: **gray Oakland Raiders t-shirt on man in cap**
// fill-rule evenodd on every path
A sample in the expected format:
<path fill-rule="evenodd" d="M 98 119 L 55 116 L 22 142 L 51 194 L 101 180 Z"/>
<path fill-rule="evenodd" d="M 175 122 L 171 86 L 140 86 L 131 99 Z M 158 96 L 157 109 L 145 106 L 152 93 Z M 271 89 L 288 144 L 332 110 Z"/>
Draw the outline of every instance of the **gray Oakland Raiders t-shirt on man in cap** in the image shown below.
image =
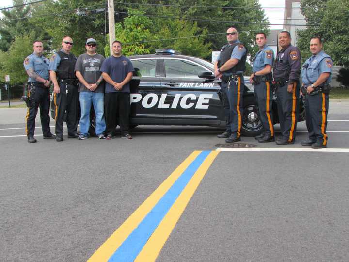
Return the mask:
<path fill-rule="evenodd" d="M 89 84 L 97 82 L 101 76 L 99 71 L 102 63 L 104 61 L 104 56 L 100 54 L 89 55 L 87 53 L 79 55 L 78 60 L 75 64 L 75 71 L 80 71 L 83 78 Z M 81 82 L 79 84 L 79 92 L 91 92 L 88 90 Z M 104 93 L 104 81 L 102 81 L 96 90 L 95 93 Z"/>

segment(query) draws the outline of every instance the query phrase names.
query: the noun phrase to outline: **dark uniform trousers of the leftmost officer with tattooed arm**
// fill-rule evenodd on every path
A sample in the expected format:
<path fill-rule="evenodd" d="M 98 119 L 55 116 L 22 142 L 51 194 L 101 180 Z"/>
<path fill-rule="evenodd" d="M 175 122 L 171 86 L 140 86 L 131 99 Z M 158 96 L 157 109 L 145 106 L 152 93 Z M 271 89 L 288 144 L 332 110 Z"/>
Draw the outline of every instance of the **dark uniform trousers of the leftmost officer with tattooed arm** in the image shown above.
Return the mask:
<path fill-rule="evenodd" d="M 26 115 L 26 134 L 28 137 L 34 136 L 35 117 L 40 107 L 40 121 L 44 136 L 51 134 L 49 127 L 49 88 L 41 86 L 30 86 L 28 97 L 31 101 L 31 107 L 27 109 Z"/>

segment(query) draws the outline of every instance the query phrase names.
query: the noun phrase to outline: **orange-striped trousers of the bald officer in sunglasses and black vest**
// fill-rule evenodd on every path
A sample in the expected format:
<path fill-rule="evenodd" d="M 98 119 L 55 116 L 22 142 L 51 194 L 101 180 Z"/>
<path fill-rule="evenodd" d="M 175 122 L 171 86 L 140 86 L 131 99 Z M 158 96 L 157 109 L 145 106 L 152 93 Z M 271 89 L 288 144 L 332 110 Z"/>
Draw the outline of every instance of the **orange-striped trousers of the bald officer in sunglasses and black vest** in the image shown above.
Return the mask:
<path fill-rule="evenodd" d="M 229 113 L 230 113 L 230 129 L 231 134 L 240 137 L 241 135 L 241 123 L 242 123 L 242 97 L 245 84 L 243 77 L 233 77 L 228 82 L 228 98 L 229 98 Z"/>

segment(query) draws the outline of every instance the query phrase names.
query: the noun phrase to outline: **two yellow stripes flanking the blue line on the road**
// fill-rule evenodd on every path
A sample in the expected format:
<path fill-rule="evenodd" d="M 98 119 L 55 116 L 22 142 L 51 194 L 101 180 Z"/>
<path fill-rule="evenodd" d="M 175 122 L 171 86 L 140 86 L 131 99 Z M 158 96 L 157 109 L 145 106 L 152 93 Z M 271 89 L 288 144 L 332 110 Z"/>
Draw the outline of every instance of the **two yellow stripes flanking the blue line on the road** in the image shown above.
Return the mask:
<path fill-rule="evenodd" d="M 213 163 L 218 154 L 219 151 L 194 151 L 191 153 L 190 156 L 143 202 L 143 204 L 127 218 L 127 220 L 106 240 L 106 242 L 95 251 L 88 262 L 155 261 L 162 246 L 165 244 L 179 217 L 189 203 L 190 198 L 193 196 L 209 166 Z M 135 229 L 140 227 L 143 219 L 154 209 L 154 207 L 156 207 L 161 198 L 169 192 L 175 182 L 185 172 L 188 172 L 188 169 L 190 169 L 192 164 L 198 162 L 200 157 L 203 159 L 202 163 L 196 163 L 198 168 L 196 171 L 194 170 L 195 173 L 191 176 L 189 182 L 175 199 L 171 208 L 167 211 L 156 229 L 152 231 L 150 237 L 147 239 L 136 258 L 133 259 L 132 256 L 128 257 L 128 254 L 122 254 L 122 258 L 116 260 L 114 253 L 116 254 L 118 248 L 123 245 Z"/>

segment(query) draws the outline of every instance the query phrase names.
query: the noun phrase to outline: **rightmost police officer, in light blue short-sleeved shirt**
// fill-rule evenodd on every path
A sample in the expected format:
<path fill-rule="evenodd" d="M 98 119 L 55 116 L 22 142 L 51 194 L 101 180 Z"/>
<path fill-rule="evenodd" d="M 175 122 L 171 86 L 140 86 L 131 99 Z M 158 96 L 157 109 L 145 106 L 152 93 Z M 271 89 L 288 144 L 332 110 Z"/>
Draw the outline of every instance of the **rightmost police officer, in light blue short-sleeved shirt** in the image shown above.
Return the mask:
<path fill-rule="evenodd" d="M 327 114 L 329 109 L 329 83 L 333 61 L 322 50 L 322 40 L 316 36 L 310 40 L 313 54 L 302 66 L 302 94 L 305 96 L 305 121 L 309 139 L 302 146 L 314 149 L 327 147 Z"/>

